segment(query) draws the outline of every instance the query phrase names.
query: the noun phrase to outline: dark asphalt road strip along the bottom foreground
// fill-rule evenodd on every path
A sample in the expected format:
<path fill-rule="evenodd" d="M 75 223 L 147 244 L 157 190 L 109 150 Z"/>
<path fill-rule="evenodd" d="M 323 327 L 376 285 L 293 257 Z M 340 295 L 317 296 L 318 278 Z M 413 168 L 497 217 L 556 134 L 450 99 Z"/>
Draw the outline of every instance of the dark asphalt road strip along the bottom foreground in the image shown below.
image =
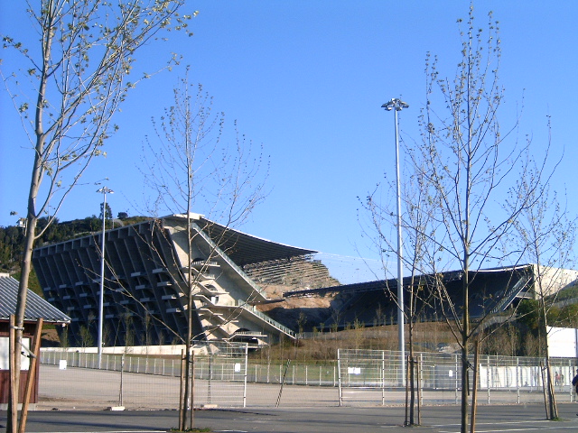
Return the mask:
<path fill-rule="evenodd" d="M 578 404 L 559 404 L 559 421 L 545 420 L 543 405 L 480 406 L 478 433 L 578 431 Z M 175 410 L 37 410 L 30 412 L 28 433 L 56 432 L 164 432 L 177 425 Z M 195 426 L 215 432 L 251 433 L 372 433 L 407 432 L 403 407 L 284 408 L 197 410 Z M 0 412 L 0 427 L 6 412 Z M 456 406 L 430 406 L 422 410 L 419 431 L 459 433 Z"/>

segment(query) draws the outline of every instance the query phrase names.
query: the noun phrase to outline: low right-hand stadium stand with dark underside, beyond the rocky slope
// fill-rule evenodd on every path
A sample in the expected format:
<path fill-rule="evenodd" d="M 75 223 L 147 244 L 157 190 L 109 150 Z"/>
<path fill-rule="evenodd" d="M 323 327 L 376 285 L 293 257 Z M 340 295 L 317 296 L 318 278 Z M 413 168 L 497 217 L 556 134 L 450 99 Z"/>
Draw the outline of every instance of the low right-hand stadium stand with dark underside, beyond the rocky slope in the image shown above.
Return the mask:
<path fill-rule="evenodd" d="M 578 283 L 578 271 L 572 269 L 550 268 L 536 264 L 521 264 L 499 268 L 481 269 L 470 273 L 471 291 L 469 309 L 471 319 L 477 320 L 508 309 L 515 309 L 521 299 L 539 299 L 536 287 L 538 275 L 541 275 L 541 291 L 550 296 L 564 288 Z M 415 297 L 414 309 L 424 321 L 442 320 L 448 306 L 461 317 L 463 309 L 462 284 L 463 272 L 441 272 L 436 275 L 417 275 L 404 278 L 405 309 L 409 311 L 412 284 L 420 290 Z M 443 287 L 443 294 L 440 288 Z M 396 323 L 397 280 L 379 280 L 356 284 L 322 287 L 320 289 L 291 290 L 284 292 L 284 298 L 300 298 L 340 294 L 340 309 L 324 320 L 327 327 L 343 329 L 353 323 L 364 327 Z M 445 312 L 444 312 L 445 311 Z"/>

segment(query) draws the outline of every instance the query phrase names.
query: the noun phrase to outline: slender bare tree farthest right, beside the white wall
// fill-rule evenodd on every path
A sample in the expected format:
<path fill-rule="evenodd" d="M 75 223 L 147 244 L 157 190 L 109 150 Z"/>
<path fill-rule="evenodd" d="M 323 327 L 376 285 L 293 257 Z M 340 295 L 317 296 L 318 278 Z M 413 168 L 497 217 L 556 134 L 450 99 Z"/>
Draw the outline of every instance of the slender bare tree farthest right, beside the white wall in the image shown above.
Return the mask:
<path fill-rule="evenodd" d="M 567 209 L 561 206 L 557 193 L 552 193 L 547 182 L 540 182 L 535 187 L 534 182 L 545 170 L 544 164 L 544 161 L 539 165 L 534 160 L 528 161 L 527 176 L 517 180 L 515 187 L 509 190 L 505 207 L 511 212 L 520 196 L 531 203 L 517 217 L 514 223 L 516 230 L 510 242 L 524 252 L 527 263 L 533 264 L 538 337 L 541 340 L 539 355 L 545 359 L 546 413 L 549 419 L 557 419 L 548 348 L 549 327 L 554 324 L 549 323 L 549 310 L 554 307 L 559 290 L 576 277 L 575 272 L 569 271 L 574 262 L 572 252 L 576 241 L 576 220 L 566 217 Z"/>

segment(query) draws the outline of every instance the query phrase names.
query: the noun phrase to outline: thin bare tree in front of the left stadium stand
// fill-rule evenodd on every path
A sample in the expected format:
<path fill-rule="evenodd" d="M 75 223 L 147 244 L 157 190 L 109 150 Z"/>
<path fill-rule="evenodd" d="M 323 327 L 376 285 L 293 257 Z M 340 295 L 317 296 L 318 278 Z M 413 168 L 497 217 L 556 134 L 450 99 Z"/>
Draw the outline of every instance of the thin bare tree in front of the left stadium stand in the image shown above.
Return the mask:
<path fill-rule="evenodd" d="M 199 236 L 210 231 L 210 226 L 197 226 L 193 210 L 203 210 L 207 217 L 227 228 L 239 226 L 266 197 L 268 174 L 262 149 L 254 154 L 252 144 L 238 134 L 236 124 L 233 137 L 228 137 L 223 114 L 213 114 L 212 98 L 201 86 L 196 92 L 192 89 L 187 71 L 187 76 L 174 88 L 174 105 L 165 110 L 160 122 L 154 120 L 156 136 L 154 140 L 147 140 L 143 152 L 144 179 L 147 188 L 156 196 L 153 212 L 171 212 L 186 217 L 188 263 L 178 279 L 183 282 L 179 290 L 187 297 L 188 321 L 184 338 L 184 376 L 187 380 L 179 421 L 182 430 L 194 426 L 194 388 L 189 378 L 194 381 L 191 345 L 199 337 L 193 333 L 194 311 L 200 307 L 195 305 L 195 295 L 202 289 L 203 274 L 208 270 L 210 260 L 225 243 L 224 237 L 217 239 L 202 257 L 200 268 L 193 266 L 197 261 L 193 244 Z M 226 231 L 222 236 L 226 236 Z M 226 320 L 236 318 L 239 312 L 233 312 Z"/>

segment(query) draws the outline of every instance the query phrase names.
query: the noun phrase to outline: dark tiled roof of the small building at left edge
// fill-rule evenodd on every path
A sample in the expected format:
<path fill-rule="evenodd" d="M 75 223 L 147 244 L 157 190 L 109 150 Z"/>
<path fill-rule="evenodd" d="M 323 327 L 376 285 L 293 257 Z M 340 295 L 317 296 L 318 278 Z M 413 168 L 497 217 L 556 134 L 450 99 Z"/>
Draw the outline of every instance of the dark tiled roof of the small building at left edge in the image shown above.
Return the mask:
<path fill-rule="evenodd" d="M 15 313 L 17 297 L 18 281 L 12 277 L 0 275 L 0 320 L 8 320 L 10 315 Z M 32 290 L 28 290 L 24 320 L 36 321 L 38 318 L 43 318 L 49 323 L 70 322 L 70 318 L 60 309 L 52 307 Z"/>

